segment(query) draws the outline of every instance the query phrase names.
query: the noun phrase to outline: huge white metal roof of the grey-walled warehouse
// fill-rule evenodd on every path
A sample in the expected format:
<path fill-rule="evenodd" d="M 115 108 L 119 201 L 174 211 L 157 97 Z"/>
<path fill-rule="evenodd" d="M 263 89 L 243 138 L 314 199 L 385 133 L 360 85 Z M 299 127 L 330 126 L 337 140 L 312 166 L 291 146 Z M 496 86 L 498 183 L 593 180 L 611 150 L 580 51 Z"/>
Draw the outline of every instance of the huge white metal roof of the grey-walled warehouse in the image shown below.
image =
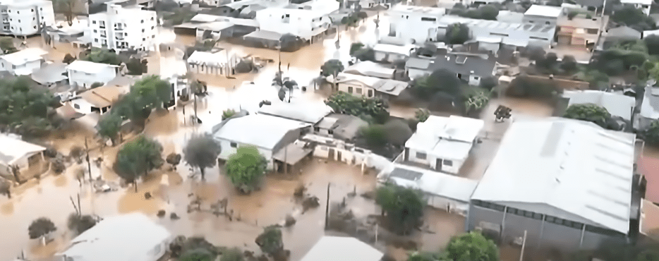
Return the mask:
<path fill-rule="evenodd" d="M 514 122 L 471 199 L 627 234 L 635 138 L 572 119 Z"/>

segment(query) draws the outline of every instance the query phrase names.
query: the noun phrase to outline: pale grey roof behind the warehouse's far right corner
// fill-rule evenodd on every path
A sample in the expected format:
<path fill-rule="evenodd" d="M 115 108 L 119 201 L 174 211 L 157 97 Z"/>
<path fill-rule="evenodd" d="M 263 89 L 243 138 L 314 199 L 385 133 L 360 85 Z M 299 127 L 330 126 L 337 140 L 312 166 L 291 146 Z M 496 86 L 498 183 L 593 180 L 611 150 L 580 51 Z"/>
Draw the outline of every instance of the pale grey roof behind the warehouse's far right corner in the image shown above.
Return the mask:
<path fill-rule="evenodd" d="M 569 104 L 596 104 L 604 107 L 613 116 L 631 120 L 631 110 L 636 106 L 636 99 L 626 95 L 600 90 L 566 90 L 563 97 L 569 98 Z"/>

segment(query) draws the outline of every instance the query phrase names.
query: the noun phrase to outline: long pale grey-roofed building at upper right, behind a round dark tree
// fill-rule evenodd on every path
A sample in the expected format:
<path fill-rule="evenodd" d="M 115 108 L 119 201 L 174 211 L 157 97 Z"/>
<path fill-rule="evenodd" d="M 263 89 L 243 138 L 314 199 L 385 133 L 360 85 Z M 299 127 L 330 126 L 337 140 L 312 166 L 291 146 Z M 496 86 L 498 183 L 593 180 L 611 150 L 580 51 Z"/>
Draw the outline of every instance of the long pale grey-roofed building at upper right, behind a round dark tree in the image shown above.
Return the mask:
<path fill-rule="evenodd" d="M 554 39 L 556 27 L 540 23 L 504 23 L 494 20 L 480 20 L 459 16 L 444 16 L 439 21 L 438 32 L 443 39 L 447 28 L 454 23 L 463 23 L 469 28 L 471 39 L 478 37 L 498 37 L 502 44 L 526 47 L 536 44 L 549 47 Z"/>

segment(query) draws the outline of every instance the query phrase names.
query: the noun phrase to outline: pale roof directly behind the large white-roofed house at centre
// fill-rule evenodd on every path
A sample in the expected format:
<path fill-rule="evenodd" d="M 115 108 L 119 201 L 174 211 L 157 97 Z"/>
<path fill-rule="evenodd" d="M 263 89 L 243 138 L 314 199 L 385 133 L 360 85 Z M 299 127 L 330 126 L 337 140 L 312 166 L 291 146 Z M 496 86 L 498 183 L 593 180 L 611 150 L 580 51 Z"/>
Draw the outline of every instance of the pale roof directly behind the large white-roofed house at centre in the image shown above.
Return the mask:
<path fill-rule="evenodd" d="M 331 114 L 332 108 L 324 102 L 273 101 L 271 105 L 261 107 L 258 113 L 314 125 Z"/>

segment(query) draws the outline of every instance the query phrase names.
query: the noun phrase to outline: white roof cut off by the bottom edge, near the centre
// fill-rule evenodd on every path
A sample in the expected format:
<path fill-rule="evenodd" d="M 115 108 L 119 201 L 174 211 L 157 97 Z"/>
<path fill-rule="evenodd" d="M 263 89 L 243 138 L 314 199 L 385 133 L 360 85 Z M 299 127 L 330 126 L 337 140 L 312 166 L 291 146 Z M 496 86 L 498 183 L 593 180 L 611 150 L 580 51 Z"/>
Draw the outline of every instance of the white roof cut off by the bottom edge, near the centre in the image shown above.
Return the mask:
<path fill-rule="evenodd" d="M 301 261 L 380 261 L 379 250 L 357 238 L 323 236 Z"/>

